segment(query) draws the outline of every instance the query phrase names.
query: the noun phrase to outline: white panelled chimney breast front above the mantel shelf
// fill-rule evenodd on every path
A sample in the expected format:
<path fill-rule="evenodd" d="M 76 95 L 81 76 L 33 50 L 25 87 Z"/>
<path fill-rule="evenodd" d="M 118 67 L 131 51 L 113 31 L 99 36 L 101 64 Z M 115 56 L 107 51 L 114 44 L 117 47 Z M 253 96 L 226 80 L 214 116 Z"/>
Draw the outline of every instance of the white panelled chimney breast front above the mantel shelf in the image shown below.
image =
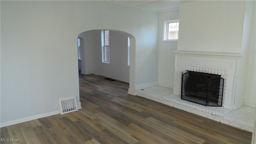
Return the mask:
<path fill-rule="evenodd" d="M 178 50 L 240 53 L 244 1 L 194 1 L 180 5 Z"/>

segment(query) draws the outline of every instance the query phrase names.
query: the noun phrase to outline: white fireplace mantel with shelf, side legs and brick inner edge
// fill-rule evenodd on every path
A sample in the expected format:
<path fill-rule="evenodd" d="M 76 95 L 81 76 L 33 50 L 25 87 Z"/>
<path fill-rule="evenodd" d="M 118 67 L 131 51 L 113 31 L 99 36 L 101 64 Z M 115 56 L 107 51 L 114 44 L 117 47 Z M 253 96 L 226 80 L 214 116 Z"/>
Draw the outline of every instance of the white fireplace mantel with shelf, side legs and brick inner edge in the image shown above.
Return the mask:
<path fill-rule="evenodd" d="M 235 109 L 237 105 L 241 105 L 236 102 L 237 66 L 238 60 L 244 55 L 194 51 L 173 52 L 175 54 L 174 94 L 180 95 L 182 71 L 219 74 L 226 81 L 223 107 Z"/>

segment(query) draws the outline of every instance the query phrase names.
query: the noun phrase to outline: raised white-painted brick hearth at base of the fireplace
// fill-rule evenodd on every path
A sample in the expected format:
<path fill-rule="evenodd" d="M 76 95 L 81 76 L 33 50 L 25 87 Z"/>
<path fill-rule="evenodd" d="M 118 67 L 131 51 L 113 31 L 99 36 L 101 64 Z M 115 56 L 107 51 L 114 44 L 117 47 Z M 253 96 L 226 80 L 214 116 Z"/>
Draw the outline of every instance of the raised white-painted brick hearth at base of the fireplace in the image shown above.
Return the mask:
<path fill-rule="evenodd" d="M 255 108 L 249 106 L 242 106 L 237 110 L 231 110 L 224 107 L 203 106 L 182 100 L 178 95 L 173 94 L 172 89 L 162 86 L 152 86 L 143 88 L 143 90 L 136 90 L 136 95 L 242 130 L 249 132 L 252 132 L 253 130 Z"/>

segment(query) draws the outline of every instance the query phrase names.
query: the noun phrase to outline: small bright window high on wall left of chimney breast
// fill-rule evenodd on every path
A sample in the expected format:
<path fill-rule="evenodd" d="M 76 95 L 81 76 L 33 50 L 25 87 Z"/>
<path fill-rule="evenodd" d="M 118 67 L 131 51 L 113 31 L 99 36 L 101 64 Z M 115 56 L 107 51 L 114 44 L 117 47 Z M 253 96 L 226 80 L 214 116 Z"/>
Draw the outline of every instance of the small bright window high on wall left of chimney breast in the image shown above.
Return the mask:
<path fill-rule="evenodd" d="M 178 21 L 167 21 L 165 26 L 164 40 L 178 40 L 179 35 L 179 22 Z"/>

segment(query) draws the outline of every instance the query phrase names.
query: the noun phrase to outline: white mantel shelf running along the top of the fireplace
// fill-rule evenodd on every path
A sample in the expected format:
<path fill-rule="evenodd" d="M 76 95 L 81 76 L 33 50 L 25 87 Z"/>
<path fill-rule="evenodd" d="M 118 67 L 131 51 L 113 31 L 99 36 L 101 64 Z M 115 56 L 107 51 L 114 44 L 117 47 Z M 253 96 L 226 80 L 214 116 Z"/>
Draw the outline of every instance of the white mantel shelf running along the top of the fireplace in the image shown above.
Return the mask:
<path fill-rule="evenodd" d="M 234 54 L 234 53 L 216 53 L 216 52 L 195 52 L 195 51 L 172 51 L 174 54 L 190 55 L 190 56 L 214 56 L 223 58 L 235 58 L 239 59 L 244 56 L 244 54 Z"/>

